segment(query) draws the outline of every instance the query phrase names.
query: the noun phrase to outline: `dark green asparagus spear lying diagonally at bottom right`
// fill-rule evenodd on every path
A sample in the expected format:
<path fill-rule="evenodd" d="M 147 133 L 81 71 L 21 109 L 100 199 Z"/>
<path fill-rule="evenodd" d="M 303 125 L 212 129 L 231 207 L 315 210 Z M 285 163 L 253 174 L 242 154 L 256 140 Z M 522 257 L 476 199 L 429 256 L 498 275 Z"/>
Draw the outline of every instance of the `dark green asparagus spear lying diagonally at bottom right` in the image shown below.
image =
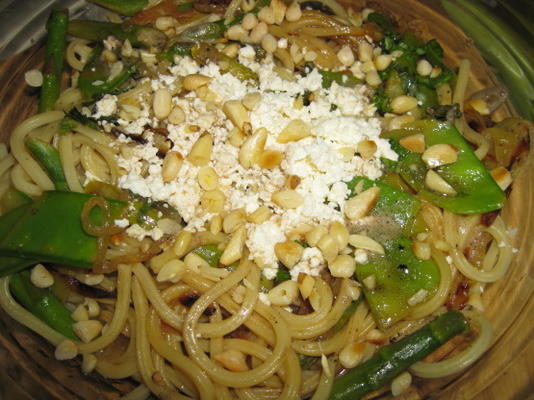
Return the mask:
<path fill-rule="evenodd" d="M 328 399 L 359 400 L 387 385 L 452 337 L 467 331 L 469 324 L 460 311 L 442 314 L 415 333 L 379 348 L 371 359 L 337 378 Z"/>

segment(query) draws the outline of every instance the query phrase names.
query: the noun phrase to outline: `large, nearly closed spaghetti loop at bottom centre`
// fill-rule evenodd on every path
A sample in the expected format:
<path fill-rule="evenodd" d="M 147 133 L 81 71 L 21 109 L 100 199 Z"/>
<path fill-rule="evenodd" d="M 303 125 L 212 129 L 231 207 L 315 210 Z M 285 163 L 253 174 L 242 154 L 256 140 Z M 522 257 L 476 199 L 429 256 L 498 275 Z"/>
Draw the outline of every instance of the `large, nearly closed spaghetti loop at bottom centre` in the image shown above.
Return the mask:
<path fill-rule="evenodd" d="M 229 387 L 249 387 L 273 375 L 283 361 L 284 352 L 289 345 L 289 337 L 285 332 L 287 330 L 285 322 L 271 308 L 265 306 L 263 303 L 258 303 L 258 311 L 271 323 L 276 335 L 272 357 L 262 365 L 245 372 L 231 372 L 214 363 L 200 349 L 196 336 L 198 319 L 213 301 L 245 277 L 249 265 L 248 260 L 242 261 L 240 266 L 228 275 L 228 277 L 216 283 L 209 291 L 202 294 L 187 314 L 182 332 L 184 335 L 184 344 L 189 356 L 198 365 L 202 366 L 214 381 Z"/>

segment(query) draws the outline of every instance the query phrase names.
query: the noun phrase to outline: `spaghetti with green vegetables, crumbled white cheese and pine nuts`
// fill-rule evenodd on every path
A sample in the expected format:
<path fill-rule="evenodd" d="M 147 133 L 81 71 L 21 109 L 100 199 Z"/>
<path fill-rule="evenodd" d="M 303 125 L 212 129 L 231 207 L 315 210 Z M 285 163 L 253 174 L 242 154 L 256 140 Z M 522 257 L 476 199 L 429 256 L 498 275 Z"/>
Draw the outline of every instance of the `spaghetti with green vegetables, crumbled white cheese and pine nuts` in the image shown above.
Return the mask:
<path fill-rule="evenodd" d="M 128 17 L 53 11 L 4 149 L 9 315 L 129 398 L 355 399 L 476 361 L 531 126 L 464 99 L 468 61 L 335 2 L 97 3 Z"/>

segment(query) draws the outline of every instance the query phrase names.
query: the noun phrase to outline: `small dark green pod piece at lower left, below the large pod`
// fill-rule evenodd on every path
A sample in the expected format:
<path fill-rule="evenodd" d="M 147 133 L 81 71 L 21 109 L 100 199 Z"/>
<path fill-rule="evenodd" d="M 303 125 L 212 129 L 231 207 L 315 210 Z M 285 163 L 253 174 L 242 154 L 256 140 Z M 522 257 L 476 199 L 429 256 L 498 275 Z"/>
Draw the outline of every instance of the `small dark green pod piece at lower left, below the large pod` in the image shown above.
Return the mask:
<path fill-rule="evenodd" d="M 50 289 L 40 289 L 30 280 L 30 272 L 12 275 L 9 289 L 15 299 L 37 318 L 64 336 L 78 340 L 72 330 L 74 320 L 70 311 L 53 295 Z"/>

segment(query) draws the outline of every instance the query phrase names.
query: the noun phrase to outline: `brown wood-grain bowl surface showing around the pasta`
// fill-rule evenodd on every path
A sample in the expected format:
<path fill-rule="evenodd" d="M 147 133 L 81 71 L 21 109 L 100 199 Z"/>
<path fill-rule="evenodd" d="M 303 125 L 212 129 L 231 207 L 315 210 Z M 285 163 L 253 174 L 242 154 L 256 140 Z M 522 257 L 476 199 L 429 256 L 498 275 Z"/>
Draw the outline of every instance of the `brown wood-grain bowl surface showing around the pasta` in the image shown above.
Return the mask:
<path fill-rule="evenodd" d="M 438 7 L 438 2 L 424 2 Z M 469 91 L 493 85 L 496 80 L 472 42 L 446 18 L 416 0 L 384 1 L 385 7 L 410 21 L 425 21 L 429 36 L 444 45 L 448 61 L 472 61 L 476 78 Z M 0 139 L 7 141 L 13 128 L 36 109 L 36 93 L 24 84 L 24 73 L 41 64 L 42 47 L 0 64 Z M 502 113 L 512 113 L 508 105 Z M 531 157 L 513 187 L 505 210 L 507 223 L 517 229 L 514 246 L 518 256 L 510 273 L 491 285 L 487 293 L 487 315 L 495 330 L 491 349 L 459 376 L 417 380 L 404 399 L 523 400 L 534 397 L 534 168 Z M 58 362 L 53 349 L 40 337 L 12 321 L 0 310 L 0 399 L 93 400 L 118 399 L 131 382 L 106 381 L 97 374 L 84 376 L 78 362 Z M 388 398 L 387 395 L 382 398 Z M 400 397 L 402 398 L 402 397 Z M 397 398 L 399 399 L 399 398 Z"/>

